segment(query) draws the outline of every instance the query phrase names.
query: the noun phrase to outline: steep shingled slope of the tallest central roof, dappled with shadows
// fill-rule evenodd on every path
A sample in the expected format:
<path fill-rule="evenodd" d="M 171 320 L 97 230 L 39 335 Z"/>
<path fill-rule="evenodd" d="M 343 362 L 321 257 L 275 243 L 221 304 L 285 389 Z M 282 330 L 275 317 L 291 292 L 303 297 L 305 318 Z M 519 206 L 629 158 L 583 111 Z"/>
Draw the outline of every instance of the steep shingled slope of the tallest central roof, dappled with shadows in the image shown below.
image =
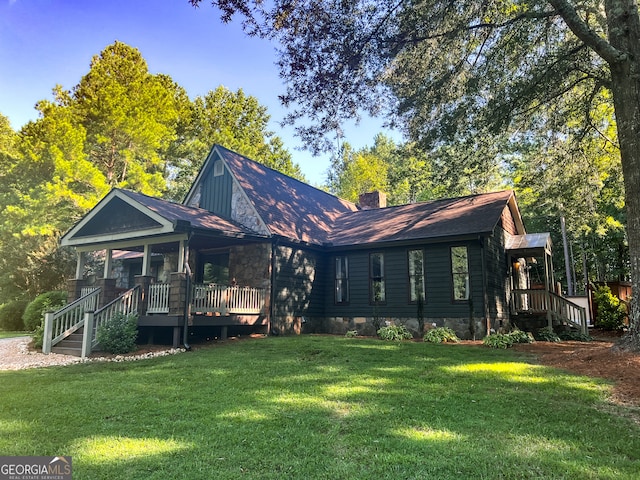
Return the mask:
<path fill-rule="evenodd" d="M 321 245 L 329 240 L 341 214 L 358 210 L 351 202 L 224 147 L 216 145 L 214 150 L 272 235 Z M 212 155 L 207 162 L 211 159 Z"/>

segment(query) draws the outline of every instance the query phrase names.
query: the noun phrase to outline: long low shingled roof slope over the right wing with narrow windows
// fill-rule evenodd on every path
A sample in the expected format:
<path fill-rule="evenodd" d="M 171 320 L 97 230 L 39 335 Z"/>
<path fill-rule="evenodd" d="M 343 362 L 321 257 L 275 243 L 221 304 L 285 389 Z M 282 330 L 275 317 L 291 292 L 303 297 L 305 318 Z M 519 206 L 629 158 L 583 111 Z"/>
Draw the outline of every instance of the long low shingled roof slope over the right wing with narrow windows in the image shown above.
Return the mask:
<path fill-rule="evenodd" d="M 521 226 L 511 190 L 361 210 L 338 218 L 330 243 L 353 246 L 488 234 L 495 229 L 505 208 L 516 213 L 516 224 Z M 521 229 L 524 233 L 524 227 Z"/>

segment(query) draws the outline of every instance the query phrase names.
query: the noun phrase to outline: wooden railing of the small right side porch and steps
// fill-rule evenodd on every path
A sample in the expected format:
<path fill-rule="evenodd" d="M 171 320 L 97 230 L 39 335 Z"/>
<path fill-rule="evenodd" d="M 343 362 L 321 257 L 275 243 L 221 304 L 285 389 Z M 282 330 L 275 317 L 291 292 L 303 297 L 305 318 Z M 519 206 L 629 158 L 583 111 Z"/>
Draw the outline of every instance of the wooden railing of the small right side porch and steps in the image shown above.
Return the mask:
<path fill-rule="evenodd" d="M 553 319 L 587 333 L 587 313 L 584 307 L 547 290 L 513 290 L 511 313 L 550 314 Z"/>

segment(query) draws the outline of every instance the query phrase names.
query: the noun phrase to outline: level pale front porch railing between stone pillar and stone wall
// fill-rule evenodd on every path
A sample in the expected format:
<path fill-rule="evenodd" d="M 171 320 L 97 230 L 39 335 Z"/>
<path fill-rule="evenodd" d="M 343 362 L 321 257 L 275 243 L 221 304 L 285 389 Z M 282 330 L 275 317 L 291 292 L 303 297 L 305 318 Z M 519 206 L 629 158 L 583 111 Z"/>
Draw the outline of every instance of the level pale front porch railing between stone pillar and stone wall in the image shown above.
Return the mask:
<path fill-rule="evenodd" d="M 226 285 L 194 285 L 191 311 L 194 313 L 258 314 L 266 300 L 264 288 Z"/>

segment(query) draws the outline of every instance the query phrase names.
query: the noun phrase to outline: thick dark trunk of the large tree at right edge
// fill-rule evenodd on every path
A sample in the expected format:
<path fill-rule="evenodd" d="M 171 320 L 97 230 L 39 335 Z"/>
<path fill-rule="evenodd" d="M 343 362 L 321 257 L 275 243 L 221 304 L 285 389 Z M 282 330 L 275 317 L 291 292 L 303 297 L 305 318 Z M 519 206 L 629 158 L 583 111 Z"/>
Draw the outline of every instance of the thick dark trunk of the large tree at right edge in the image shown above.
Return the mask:
<path fill-rule="evenodd" d="M 629 347 L 640 349 L 640 18 L 634 0 L 606 0 L 609 42 L 624 52 L 610 63 L 631 260 Z"/>

